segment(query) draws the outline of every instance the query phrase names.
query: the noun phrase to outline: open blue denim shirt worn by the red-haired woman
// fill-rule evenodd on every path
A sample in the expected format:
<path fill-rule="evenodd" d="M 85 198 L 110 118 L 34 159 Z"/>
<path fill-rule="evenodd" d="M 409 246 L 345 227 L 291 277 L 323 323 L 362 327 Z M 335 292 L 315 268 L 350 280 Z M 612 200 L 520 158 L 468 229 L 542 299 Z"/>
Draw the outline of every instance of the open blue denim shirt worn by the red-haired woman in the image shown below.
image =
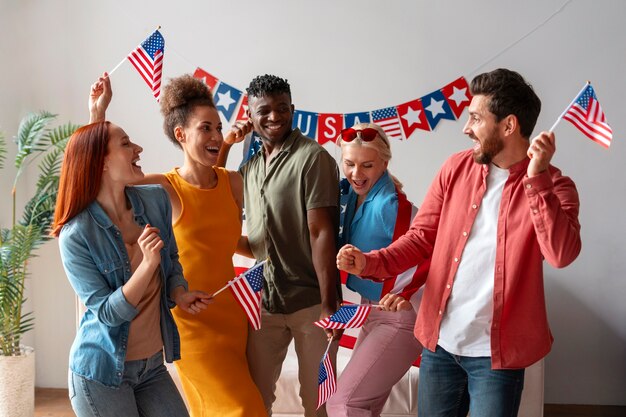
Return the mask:
<path fill-rule="evenodd" d="M 180 337 L 170 294 L 187 288 L 172 231 L 172 208 L 158 185 L 127 187 L 135 221 L 159 228 L 161 249 L 161 335 L 167 362 L 180 359 Z M 130 322 L 139 313 L 126 301 L 122 285 L 130 278 L 130 259 L 122 235 L 94 201 L 61 230 L 61 260 L 70 284 L 87 307 L 70 350 L 70 369 L 106 386 L 118 387 L 124 374 Z"/>

